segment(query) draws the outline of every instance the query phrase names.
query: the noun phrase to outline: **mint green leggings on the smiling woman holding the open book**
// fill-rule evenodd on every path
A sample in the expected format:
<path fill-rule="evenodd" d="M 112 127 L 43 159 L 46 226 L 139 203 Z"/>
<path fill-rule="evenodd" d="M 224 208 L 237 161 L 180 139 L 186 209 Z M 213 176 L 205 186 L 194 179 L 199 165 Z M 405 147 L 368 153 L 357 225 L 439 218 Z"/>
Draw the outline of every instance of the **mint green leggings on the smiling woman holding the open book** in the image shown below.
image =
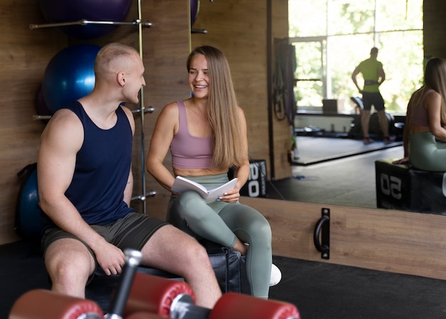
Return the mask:
<path fill-rule="evenodd" d="M 185 177 L 207 189 L 228 181 L 227 174 Z M 216 201 L 207 204 L 195 191 L 186 191 L 170 198 L 167 222 L 195 238 L 211 240 L 228 248 L 234 247 L 236 236 L 242 243 L 249 243 L 246 271 L 251 295 L 268 298 L 272 263 L 271 228 L 261 213 L 241 203 Z"/>

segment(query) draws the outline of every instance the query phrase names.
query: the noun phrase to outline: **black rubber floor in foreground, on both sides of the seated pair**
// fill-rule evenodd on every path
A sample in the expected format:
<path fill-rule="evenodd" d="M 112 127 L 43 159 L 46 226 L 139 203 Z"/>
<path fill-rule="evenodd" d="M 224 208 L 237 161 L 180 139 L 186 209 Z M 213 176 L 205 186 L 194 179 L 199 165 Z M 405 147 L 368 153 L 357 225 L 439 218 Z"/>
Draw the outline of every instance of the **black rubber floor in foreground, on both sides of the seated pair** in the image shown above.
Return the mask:
<path fill-rule="evenodd" d="M 279 256 L 273 262 L 282 280 L 271 287 L 270 298 L 293 303 L 302 319 L 446 318 L 443 280 Z M 35 244 L 0 246 L 0 286 L 0 318 L 8 318 L 14 301 L 26 291 L 48 288 Z"/>

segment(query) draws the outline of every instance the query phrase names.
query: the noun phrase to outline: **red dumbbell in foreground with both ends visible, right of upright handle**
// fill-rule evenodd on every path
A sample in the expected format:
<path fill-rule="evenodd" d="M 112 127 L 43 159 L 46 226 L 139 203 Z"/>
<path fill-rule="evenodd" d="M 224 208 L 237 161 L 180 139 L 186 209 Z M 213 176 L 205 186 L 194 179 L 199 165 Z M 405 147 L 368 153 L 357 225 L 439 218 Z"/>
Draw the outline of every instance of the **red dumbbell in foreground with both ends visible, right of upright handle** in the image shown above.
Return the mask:
<path fill-rule="evenodd" d="M 138 313 L 138 315 L 137 315 Z M 195 295 L 187 283 L 137 273 L 125 307 L 125 319 L 144 313 L 174 319 L 299 319 L 295 305 L 265 300 L 241 293 L 226 293 L 214 308 L 195 305 Z"/>

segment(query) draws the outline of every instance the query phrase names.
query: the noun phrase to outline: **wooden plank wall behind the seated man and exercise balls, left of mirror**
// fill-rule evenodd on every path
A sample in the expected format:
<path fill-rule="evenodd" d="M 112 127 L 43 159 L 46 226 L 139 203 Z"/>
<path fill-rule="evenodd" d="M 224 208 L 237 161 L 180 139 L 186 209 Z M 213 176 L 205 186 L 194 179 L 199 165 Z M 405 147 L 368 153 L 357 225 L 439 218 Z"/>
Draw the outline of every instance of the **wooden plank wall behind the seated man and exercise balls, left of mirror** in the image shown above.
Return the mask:
<path fill-rule="evenodd" d="M 133 1 L 128 21 L 138 17 L 137 1 Z M 142 21 L 152 22 L 150 29 L 142 29 L 143 59 L 145 62 L 144 101 L 154 106 L 155 112 L 145 115 L 145 153 L 155 118 L 162 106 L 175 98 L 187 96 L 187 74 L 184 61 L 190 51 L 189 1 L 170 0 L 142 1 Z M 58 29 L 30 30 L 29 24 L 44 24 L 38 1 L 4 0 L 0 3 L 2 17 L 0 33 L 0 75 L 4 79 L 0 87 L 0 244 L 20 238 L 14 233 L 14 211 L 19 193 L 21 168 L 37 159 L 38 143 L 43 121 L 33 121 L 34 96 L 40 85 L 46 65 L 51 58 L 68 45 L 79 42 L 103 45 L 120 41 L 138 48 L 138 28 L 120 26 L 112 34 L 98 39 L 79 41 L 68 38 Z M 138 106 L 130 106 L 138 108 Z M 141 123 L 137 123 L 134 142 L 135 175 L 134 196 L 141 194 Z M 157 188 L 157 183 L 146 176 L 147 191 Z M 158 191 L 158 190 L 157 190 Z M 147 211 L 164 218 L 166 195 L 159 192 L 155 198 L 147 199 Z M 142 209 L 138 201 L 133 206 Z"/>

